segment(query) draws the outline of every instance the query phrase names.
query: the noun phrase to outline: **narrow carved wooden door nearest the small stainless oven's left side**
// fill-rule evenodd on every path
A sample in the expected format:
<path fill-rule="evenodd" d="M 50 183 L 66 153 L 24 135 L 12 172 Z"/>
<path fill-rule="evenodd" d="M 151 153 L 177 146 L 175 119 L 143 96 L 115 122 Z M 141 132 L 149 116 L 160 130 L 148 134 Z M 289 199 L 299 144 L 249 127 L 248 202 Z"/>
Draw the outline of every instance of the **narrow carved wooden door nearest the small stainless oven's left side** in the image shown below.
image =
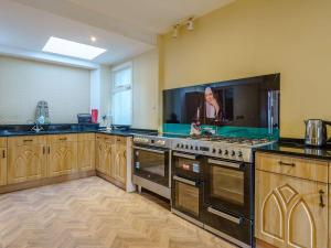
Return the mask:
<path fill-rule="evenodd" d="M 125 184 L 127 180 L 127 145 L 125 140 L 117 140 L 113 152 L 111 176 Z"/>

